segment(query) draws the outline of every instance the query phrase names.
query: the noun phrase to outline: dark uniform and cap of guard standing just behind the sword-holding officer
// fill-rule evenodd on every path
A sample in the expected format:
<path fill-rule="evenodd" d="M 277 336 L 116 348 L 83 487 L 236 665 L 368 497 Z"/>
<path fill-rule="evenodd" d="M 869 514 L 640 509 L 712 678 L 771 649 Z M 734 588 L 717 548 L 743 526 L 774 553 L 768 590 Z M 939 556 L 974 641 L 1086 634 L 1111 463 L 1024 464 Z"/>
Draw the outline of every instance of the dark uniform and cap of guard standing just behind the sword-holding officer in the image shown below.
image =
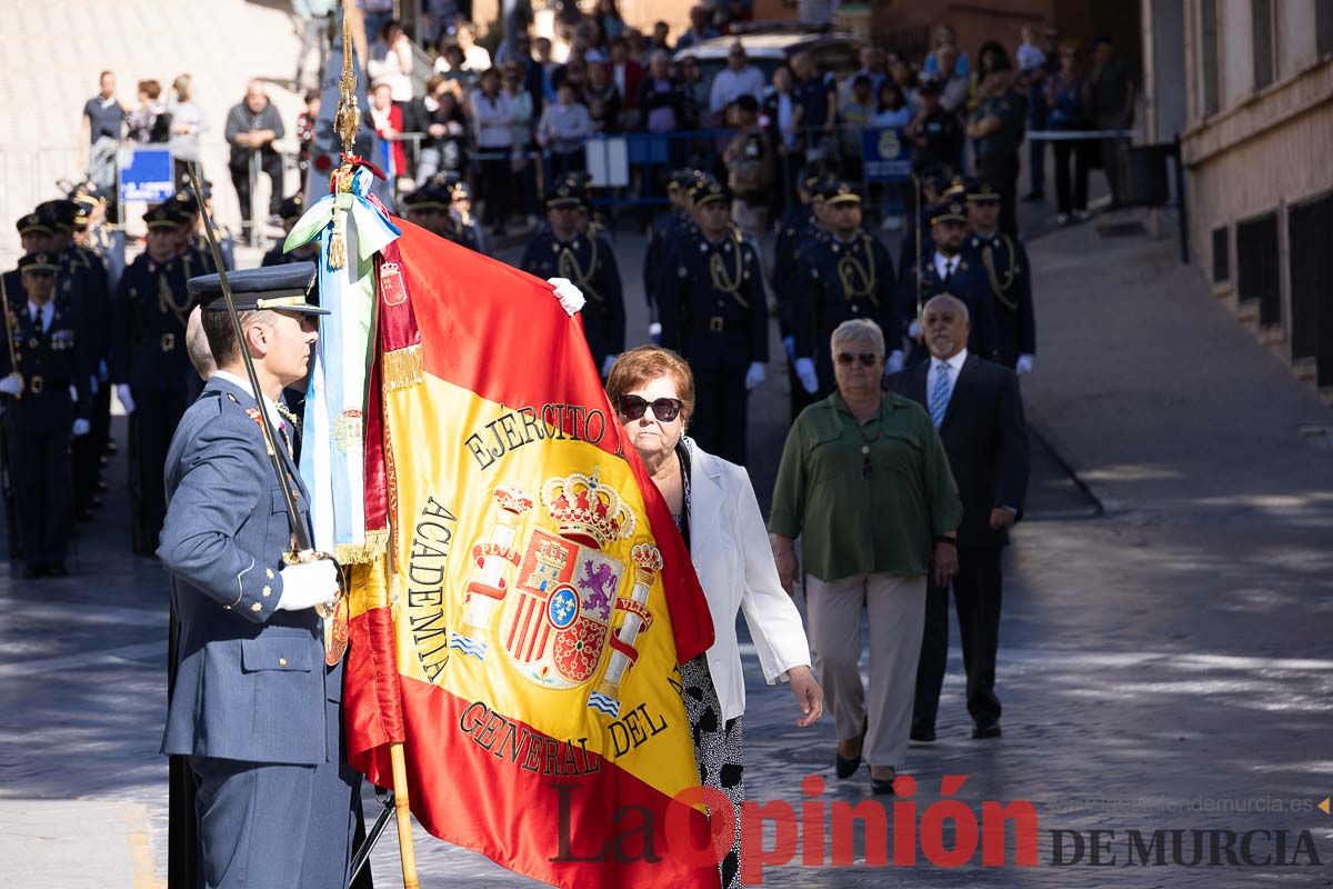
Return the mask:
<path fill-rule="evenodd" d="M 179 225 L 168 207 L 149 211 L 149 228 Z M 167 513 L 163 464 L 176 424 L 188 407 L 189 380 L 197 376 L 185 349 L 189 293 L 179 256 L 156 263 L 141 253 L 125 269 L 115 299 L 112 379 L 129 384 L 135 399 L 131 440 L 131 488 L 137 489 L 135 552 L 157 549 Z"/>

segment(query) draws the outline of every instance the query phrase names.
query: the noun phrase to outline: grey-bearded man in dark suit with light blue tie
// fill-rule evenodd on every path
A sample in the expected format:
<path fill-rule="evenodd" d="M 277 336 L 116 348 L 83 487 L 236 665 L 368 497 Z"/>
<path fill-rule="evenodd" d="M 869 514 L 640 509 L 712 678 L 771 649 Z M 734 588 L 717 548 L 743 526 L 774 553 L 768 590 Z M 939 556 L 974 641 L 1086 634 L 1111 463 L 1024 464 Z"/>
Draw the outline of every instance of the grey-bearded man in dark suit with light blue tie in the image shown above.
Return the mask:
<path fill-rule="evenodd" d="M 1009 368 L 968 353 L 968 307 L 948 293 L 921 313 L 928 363 L 888 379 L 894 392 L 925 405 L 940 431 L 962 497 L 958 573 L 953 598 L 968 673 L 972 737 L 1000 737 L 994 693 L 1000 640 L 1000 552 L 1009 526 L 1022 516 L 1028 492 L 1028 432 L 1018 377 Z M 930 585 L 925 636 L 917 665 L 912 740 L 934 740 L 945 660 L 949 650 L 949 589 Z"/>

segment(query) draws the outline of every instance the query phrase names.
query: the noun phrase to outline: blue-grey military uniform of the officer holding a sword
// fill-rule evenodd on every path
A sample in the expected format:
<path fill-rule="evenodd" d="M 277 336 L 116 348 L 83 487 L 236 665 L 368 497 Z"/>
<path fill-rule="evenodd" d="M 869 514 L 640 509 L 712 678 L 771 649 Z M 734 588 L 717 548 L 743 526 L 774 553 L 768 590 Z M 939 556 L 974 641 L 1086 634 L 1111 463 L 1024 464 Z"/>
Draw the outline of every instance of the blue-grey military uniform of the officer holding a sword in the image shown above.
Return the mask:
<path fill-rule="evenodd" d="M 205 886 L 343 886 L 361 780 L 343 750 L 343 669 L 324 666 L 313 610 L 275 610 L 291 529 L 255 408 L 213 379 L 168 452 L 157 554 L 180 629 L 161 750 L 191 757 Z M 285 452 L 284 465 L 308 522 Z"/>

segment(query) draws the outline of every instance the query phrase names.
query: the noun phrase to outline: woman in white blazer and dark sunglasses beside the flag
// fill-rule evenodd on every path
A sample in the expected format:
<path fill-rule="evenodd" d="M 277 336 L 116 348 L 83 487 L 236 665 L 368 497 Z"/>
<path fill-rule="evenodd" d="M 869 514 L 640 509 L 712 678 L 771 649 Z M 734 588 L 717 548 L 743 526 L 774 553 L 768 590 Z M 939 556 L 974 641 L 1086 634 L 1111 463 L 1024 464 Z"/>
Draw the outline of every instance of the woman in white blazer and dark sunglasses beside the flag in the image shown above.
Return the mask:
<path fill-rule="evenodd" d="M 737 614 L 745 613 L 764 678 L 770 685 L 790 682 L 801 713 L 798 726 L 820 717 L 824 693 L 810 674 L 801 616 L 778 581 L 749 476 L 684 436 L 694 408 L 689 365 L 660 347 L 631 349 L 611 368 L 607 395 L 676 518 L 713 618 L 713 646 L 681 665 L 680 676 L 701 784 L 726 794 L 733 806 L 732 848 L 718 864 L 722 889 L 732 889 L 740 885 L 740 805 L 745 798 L 745 681 Z"/>

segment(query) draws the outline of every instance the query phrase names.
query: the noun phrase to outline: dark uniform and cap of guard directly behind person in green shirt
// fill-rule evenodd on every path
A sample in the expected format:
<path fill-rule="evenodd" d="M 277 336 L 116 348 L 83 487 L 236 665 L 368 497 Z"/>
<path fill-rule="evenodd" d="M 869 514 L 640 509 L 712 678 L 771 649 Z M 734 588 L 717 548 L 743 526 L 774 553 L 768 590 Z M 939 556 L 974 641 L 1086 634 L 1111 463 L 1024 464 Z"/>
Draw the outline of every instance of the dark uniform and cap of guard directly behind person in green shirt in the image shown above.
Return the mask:
<path fill-rule="evenodd" d="M 848 183 L 838 183 L 824 196 L 829 207 L 860 200 Z M 814 360 L 820 379 L 817 399 L 828 397 L 837 388 L 829 337 L 842 321 L 874 321 L 892 349 L 892 331 L 897 329 L 896 293 L 893 260 L 884 244 L 865 229 L 857 229 L 849 241 L 829 233 L 801 251 L 796 263 L 792 331 L 796 357 Z"/>

